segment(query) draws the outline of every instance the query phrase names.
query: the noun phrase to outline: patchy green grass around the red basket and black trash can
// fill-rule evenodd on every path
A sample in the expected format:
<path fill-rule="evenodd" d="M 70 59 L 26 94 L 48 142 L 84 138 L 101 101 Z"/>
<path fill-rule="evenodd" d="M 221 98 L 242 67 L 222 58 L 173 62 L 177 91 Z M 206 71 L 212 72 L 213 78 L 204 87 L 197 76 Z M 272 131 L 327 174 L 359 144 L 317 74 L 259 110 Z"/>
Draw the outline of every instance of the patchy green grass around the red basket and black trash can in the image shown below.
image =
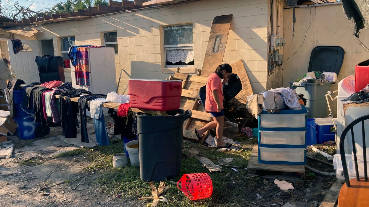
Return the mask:
<path fill-rule="evenodd" d="M 247 140 L 250 142 L 249 140 Z M 254 141 L 253 141 L 254 142 Z M 246 143 L 252 144 L 252 143 Z M 215 148 L 203 147 L 197 143 L 185 142 L 183 149 L 195 148 L 201 154 L 205 155 L 215 164 L 221 158 L 233 158 L 230 163 L 238 169 L 235 172 L 229 166 L 223 166 L 223 172 L 210 173 L 196 157 L 182 157 L 182 168 L 180 175 L 168 178 L 166 185 L 170 189 L 164 197 L 169 203 L 160 203 L 160 206 L 184 206 L 184 207 L 205 207 L 205 206 L 248 206 L 252 202 L 249 194 L 253 193 L 255 186 L 261 185 L 259 177 L 246 177 L 245 170 L 250 157 L 250 149 L 244 149 L 237 152 L 223 151 L 218 152 Z M 123 151 L 123 142 L 111 144 L 109 146 L 97 146 L 91 149 L 77 149 L 64 152 L 55 157 L 76 156 L 83 154 L 92 162 L 86 166 L 86 171 L 96 173 L 96 184 L 100 189 L 110 195 L 121 195 L 121 200 L 136 200 L 139 197 L 151 196 L 151 188 L 148 183 L 141 181 L 139 168 L 128 164 L 124 168 L 114 168 L 112 164 L 113 154 Z M 185 173 L 206 172 L 210 175 L 213 182 L 213 194 L 208 199 L 190 201 L 179 189 L 176 184 L 168 182 L 177 182 Z M 155 186 L 158 187 L 158 183 Z M 253 193 L 254 194 L 254 193 Z M 249 201 L 249 203 L 248 203 Z M 151 203 L 152 200 L 145 200 Z"/>

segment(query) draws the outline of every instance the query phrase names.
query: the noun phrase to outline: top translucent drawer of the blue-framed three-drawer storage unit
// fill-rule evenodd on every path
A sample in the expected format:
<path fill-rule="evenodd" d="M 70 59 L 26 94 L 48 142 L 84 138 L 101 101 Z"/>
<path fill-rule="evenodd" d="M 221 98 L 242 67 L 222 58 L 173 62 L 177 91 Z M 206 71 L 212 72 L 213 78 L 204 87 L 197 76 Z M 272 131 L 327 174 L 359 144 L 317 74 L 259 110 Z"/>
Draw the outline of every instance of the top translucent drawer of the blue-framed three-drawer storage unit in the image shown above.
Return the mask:
<path fill-rule="evenodd" d="M 260 113 L 260 127 L 277 128 L 290 127 L 299 128 L 305 127 L 305 113 L 299 114 L 263 114 Z"/>

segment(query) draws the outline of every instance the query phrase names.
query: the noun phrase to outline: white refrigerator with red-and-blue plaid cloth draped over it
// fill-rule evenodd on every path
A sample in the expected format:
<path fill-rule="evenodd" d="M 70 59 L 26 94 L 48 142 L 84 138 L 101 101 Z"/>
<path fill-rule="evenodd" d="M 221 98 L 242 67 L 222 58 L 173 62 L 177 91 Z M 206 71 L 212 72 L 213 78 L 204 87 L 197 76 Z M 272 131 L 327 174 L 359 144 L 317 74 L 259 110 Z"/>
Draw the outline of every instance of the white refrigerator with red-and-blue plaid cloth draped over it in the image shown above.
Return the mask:
<path fill-rule="evenodd" d="M 90 85 L 76 85 L 75 67 L 70 65 L 73 88 L 83 88 L 93 94 L 108 94 L 117 90 L 114 48 L 89 48 Z"/>

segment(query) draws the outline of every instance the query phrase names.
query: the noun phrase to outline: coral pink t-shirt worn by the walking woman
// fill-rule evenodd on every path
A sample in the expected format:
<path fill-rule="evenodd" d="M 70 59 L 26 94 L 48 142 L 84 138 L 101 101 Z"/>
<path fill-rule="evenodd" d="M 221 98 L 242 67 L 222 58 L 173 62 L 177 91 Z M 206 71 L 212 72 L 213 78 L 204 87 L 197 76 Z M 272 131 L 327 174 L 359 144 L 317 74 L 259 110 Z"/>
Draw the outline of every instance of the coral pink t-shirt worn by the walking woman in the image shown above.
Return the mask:
<path fill-rule="evenodd" d="M 218 110 L 217 103 L 214 101 L 213 94 L 211 90 L 217 90 L 219 102 L 221 108 L 223 109 L 223 84 L 220 77 L 216 73 L 210 74 L 206 81 L 206 100 L 205 100 L 205 110 L 207 112 L 216 112 Z"/>

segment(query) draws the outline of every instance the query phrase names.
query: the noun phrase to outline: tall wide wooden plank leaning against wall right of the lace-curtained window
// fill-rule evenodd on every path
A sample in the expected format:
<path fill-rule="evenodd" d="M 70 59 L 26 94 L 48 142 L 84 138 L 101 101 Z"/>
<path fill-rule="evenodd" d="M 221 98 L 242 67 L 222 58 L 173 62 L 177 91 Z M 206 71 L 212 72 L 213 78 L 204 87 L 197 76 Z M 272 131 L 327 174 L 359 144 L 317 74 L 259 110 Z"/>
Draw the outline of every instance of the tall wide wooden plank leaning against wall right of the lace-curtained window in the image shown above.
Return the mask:
<path fill-rule="evenodd" d="M 232 14 L 217 16 L 211 25 L 201 76 L 209 76 L 222 64 Z"/>

